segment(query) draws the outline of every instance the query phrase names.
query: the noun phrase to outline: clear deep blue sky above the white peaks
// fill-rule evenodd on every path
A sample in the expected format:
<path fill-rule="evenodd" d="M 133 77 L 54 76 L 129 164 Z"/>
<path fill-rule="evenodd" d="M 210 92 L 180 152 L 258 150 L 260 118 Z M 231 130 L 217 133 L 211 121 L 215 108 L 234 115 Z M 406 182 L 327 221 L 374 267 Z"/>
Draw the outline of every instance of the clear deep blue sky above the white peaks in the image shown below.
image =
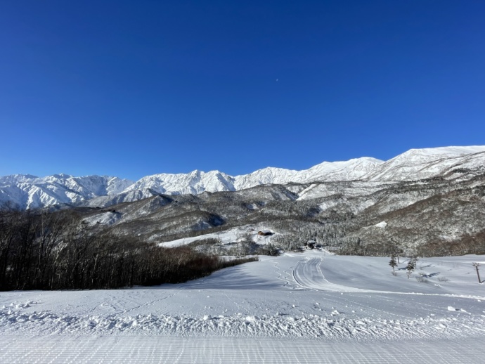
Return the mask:
<path fill-rule="evenodd" d="M 485 144 L 485 1 L 0 2 L 0 176 Z"/>

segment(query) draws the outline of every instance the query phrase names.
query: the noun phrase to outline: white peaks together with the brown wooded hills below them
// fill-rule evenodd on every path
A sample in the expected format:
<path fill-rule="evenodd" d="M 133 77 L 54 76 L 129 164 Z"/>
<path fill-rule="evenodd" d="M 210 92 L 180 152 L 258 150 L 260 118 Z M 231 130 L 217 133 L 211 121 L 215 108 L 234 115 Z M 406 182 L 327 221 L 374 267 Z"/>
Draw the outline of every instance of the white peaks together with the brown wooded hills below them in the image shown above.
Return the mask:
<path fill-rule="evenodd" d="M 420 256 L 485 252 L 485 147 L 409 150 L 382 162 L 323 162 L 305 171 L 266 168 L 157 174 L 135 183 L 106 176 L 1 177 L 0 196 L 21 208 L 72 209 L 92 229 L 165 244 L 297 249 L 315 241 L 344 254 Z M 261 240 L 258 230 L 269 230 Z M 196 239 L 196 240 L 197 240 Z M 223 244 L 224 245 L 224 244 Z M 227 247 L 220 247 L 219 253 Z M 242 249 L 242 248 L 241 248 Z"/>

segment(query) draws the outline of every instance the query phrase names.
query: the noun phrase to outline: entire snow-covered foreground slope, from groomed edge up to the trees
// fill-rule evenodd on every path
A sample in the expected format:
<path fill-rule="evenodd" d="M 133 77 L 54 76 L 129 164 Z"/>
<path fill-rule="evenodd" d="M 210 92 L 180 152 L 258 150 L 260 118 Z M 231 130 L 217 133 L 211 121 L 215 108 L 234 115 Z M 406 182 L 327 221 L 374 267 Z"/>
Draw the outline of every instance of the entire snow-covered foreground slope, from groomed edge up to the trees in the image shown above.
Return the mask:
<path fill-rule="evenodd" d="M 420 259 L 408 279 L 406 259 L 393 275 L 386 258 L 307 251 L 179 285 L 1 292 L 0 363 L 478 363 L 474 261 Z"/>

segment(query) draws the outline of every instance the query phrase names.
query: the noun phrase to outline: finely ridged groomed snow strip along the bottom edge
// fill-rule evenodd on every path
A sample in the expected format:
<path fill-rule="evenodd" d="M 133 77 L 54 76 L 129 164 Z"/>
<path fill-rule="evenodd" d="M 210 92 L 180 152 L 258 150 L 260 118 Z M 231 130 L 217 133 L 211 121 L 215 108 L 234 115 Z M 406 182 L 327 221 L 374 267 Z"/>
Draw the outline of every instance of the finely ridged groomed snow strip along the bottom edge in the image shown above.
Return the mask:
<path fill-rule="evenodd" d="M 211 337 L 2 336 L 0 363 L 481 363 L 482 339 L 340 343 Z"/>

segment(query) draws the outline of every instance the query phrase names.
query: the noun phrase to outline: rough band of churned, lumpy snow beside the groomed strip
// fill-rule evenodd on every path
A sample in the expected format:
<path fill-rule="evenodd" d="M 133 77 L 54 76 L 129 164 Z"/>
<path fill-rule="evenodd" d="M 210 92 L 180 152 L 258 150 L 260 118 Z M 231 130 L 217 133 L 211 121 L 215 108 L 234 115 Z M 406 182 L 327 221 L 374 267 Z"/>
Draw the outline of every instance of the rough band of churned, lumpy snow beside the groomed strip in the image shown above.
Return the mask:
<path fill-rule="evenodd" d="M 27 304 L 26 306 L 29 306 Z M 295 305 L 296 307 L 296 305 Z M 367 318 L 345 317 L 342 308 L 329 308 L 325 316 L 318 314 L 245 316 L 72 316 L 49 311 L 27 313 L 22 305 L 3 308 L 0 325 L 8 326 L 6 333 L 30 334 L 101 334 L 101 335 L 164 335 L 177 337 L 306 337 L 339 340 L 366 339 L 432 339 L 485 334 L 485 319 L 457 317 Z M 464 309 L 448 311 L 467 313 Z"/>

